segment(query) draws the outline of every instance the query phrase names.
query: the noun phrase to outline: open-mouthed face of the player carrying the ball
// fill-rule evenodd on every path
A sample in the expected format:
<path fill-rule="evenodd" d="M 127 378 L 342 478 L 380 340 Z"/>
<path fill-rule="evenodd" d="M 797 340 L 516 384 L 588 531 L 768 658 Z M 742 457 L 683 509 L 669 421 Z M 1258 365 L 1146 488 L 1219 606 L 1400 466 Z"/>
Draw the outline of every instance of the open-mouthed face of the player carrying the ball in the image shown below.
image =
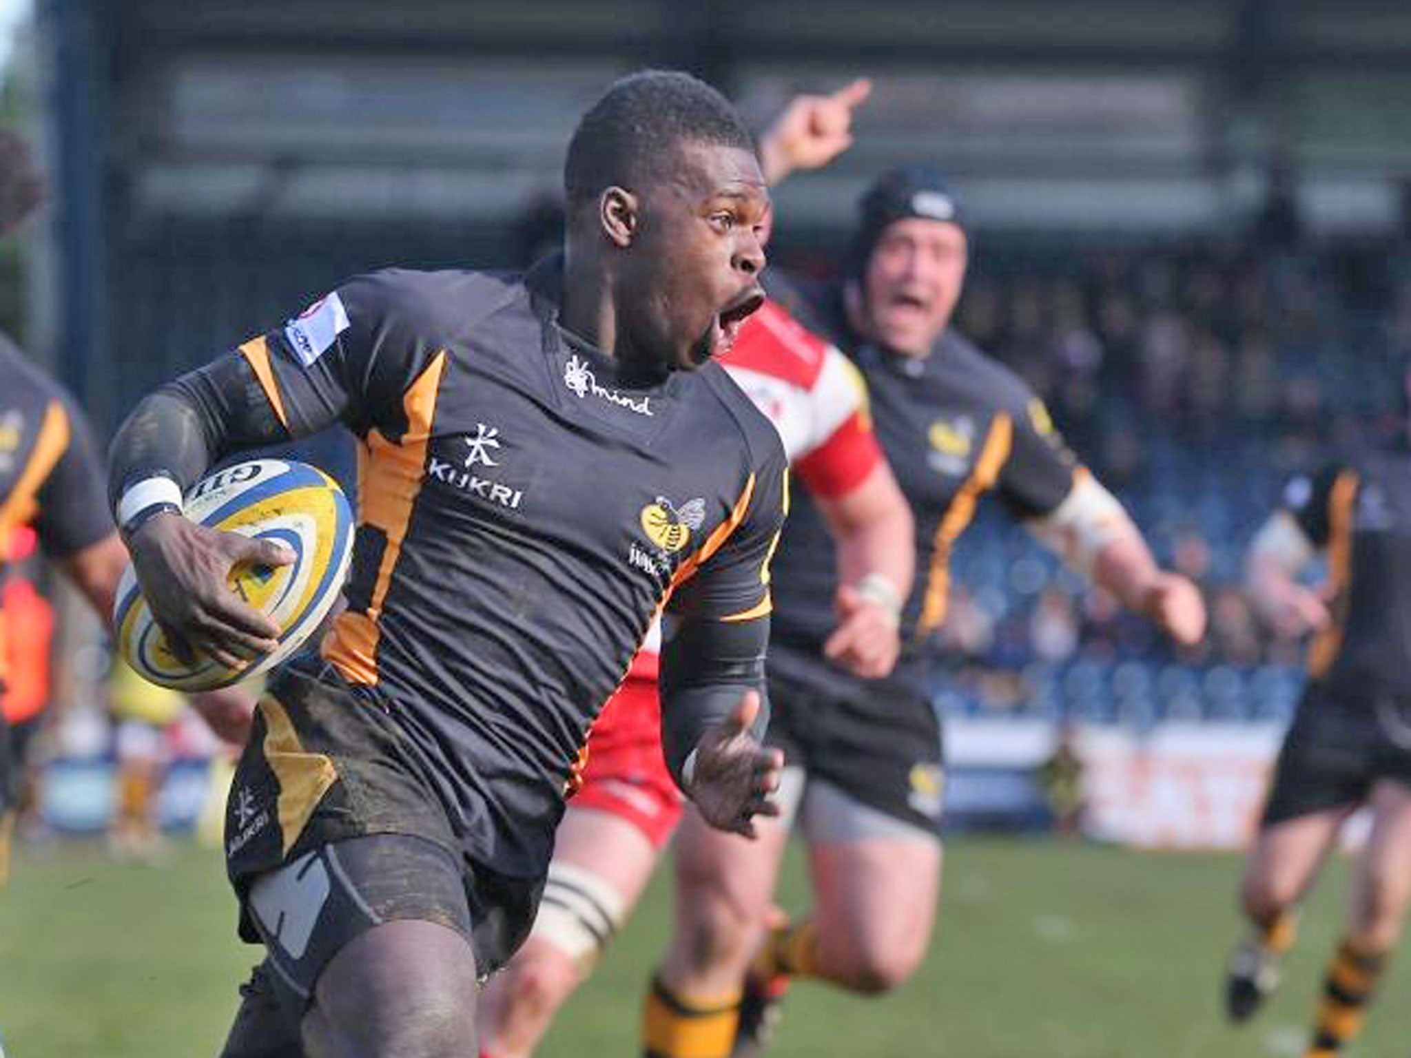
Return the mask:
<path fill-rule="evenodd" d="M 759 274 L 768 213 L 753 152 L 683 145 L 673 175 L 642 197 L 622 276 L 631 347 L 687 370 L 728 348 L 765 299 Z"/>

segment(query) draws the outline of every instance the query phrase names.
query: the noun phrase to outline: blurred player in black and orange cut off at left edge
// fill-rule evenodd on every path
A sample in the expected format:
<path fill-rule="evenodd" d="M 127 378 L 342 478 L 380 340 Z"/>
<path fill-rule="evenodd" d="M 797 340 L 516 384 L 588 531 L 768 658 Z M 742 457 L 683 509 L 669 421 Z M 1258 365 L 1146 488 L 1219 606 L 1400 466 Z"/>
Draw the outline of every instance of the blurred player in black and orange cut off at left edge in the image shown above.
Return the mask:
<path fill-rule="evenodd" d="M 18 227 L 41 196 L 28 147 L 0 128 L 0 237 Z M 127 552 L 103 491 L 83 416 L 68 394 L 0 334 L 0 540 L 18 526 L 32 526 L 44 553 L 107 619 Z M 7 873 L 17 784 L 8 725 L 0 718 L 0 879 Z"/>

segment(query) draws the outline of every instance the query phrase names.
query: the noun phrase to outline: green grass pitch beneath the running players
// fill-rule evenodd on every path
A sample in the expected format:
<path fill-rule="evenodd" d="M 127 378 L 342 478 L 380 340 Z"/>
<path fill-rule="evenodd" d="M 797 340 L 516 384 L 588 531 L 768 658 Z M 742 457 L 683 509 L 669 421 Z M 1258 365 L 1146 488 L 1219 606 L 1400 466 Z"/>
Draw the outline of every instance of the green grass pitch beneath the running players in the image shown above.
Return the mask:
<path fill-rule="evenodd" d="M 0 893 L 0 1031 L 8 1058 L 214 1055 L 255 949 L 233 937 L 217 853 L 178 845 L 161 866 L 92 845 L 20 851 Z M 818 985 L 789 997 L 779 1058 L 1297 1058 L 1332 951 L 1348 870 L 1331 865 L 1304 916 L 1284 986 L 1235 1030 L 1222 966 L 1239 931 L 1239 861 L 1038 841 L 957 839 L 940 928 L 897 993 Z M 635 1055 L 642 985 L 669 930 L 669 886 L 649 890 L 545 1058 Z M 801 858 L 785 903 L 806 907 Z M 1405 1054 L 1407 959 L 1393 962 L 1350 1058 Z"/>

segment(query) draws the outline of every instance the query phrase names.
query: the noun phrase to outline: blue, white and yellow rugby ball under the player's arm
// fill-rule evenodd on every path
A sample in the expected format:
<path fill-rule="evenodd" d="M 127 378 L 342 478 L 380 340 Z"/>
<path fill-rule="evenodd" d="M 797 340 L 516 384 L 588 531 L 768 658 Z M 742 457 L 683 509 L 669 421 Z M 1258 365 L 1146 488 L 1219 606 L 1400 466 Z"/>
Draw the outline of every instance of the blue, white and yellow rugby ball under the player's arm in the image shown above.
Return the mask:
<path fill-rule="evenodd" d="M 317 467 L 291 460 L 251 460 L 199 481 L 185 501 L 186 518 L 210 529 L 278 540 L 291 566 L 240 564 L 230 590 L 279 625 L 279 645 L 238 669 L 198 656 L 185 664 L 166 646 L 137 585 L 131 563 L 117 585 L 113 628 L 117 652 L 145 680 L 182 691 L 209 691 L 258 676 L 292 655 L 313 633 L 343 587 L 353 553 L 353 511 L 337 482 Z"/>

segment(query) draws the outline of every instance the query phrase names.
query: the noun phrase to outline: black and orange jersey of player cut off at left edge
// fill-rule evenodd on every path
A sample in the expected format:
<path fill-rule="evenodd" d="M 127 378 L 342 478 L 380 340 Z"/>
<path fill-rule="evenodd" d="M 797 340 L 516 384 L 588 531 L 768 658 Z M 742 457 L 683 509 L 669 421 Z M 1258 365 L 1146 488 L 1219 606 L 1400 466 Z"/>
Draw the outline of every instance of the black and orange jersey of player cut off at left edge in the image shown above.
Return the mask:
<path fill-rule="evenodd" d="M 63 389 L 0 334 L 0 545 L 34 526 L 51 559 L 113 532 L 103 468 L 83 416 Z M 0 615 L 0 680 L 3 669 Z"/>

